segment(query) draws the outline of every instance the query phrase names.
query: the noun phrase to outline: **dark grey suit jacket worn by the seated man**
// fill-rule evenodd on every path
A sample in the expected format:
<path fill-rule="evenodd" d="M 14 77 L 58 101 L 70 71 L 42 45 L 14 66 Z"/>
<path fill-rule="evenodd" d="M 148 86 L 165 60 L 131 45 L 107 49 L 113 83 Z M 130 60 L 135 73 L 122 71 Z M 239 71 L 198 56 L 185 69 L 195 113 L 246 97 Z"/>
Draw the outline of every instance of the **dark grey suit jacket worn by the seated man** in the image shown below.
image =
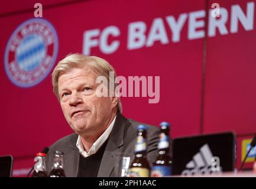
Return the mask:
<path fill-rule="evenodd" d="M 105 152 L 103 153 L 98 177 L 120 177 L 122 168 L 122 157 L 134 159 L 134 148 L 137 139 L 137 126 L 141 124 L 134 120 L 125 118 L 117 113 L 115 124 L 109 135 Z M 144 124 L 145 125 L 145 124 Z M 148 125 L 147 125 L 148 126 Z M 148 161 L 155 161 L 158 150 L 158 135 L 160 129 L 155 126 L 148 126 L 147 132 L 147 157 Z M 64 171 L 67 177 L 76 177 L 79 167 L 79 150 L 76 147 L 78 135 L 71 135 L 61 138 L 50 146 L 47 154 L 47 166 L 51 169 L 53 164 L 54 151 L 64 152 Z M 130 162 L 131 162 L 130 161 Z"/>

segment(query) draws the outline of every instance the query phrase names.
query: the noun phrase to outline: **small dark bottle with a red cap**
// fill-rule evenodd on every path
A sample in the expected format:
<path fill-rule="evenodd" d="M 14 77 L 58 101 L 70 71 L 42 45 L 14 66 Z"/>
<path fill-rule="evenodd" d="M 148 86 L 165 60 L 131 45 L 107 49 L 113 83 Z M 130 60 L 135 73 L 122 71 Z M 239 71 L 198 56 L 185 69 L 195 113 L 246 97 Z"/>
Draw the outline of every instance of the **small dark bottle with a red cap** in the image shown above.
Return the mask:
<path fill-rule="evenodd" d="M 36 163 L 34 165 L 33 177 L 47 177 L 46 154 L 40 152 L 35 156 L 34 161 Z"/>

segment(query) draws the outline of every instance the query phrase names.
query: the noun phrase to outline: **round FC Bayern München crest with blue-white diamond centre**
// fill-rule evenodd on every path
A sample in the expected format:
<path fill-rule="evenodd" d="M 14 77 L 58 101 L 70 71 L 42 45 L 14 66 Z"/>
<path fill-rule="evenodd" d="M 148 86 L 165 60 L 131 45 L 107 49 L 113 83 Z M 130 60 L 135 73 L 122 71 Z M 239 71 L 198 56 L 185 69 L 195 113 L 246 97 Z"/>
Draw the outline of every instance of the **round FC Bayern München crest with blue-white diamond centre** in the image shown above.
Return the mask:
<path fill-rule="evenodd" d="M 44 80 L 54 66 L 58 38 L 53 25 L 42 18 L 23 22 L 9 38 L 5 49 L 5 71 L 20 87 Z"/>

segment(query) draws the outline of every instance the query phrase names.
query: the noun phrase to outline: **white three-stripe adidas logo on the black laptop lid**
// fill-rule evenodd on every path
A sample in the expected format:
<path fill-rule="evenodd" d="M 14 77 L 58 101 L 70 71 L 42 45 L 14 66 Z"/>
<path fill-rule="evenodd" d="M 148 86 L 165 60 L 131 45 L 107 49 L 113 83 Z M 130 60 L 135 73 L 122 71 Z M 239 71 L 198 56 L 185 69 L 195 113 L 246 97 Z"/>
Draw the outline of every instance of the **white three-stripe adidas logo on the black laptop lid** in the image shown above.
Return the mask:
<path fill-rule="evenodd" d="M 219 170 L 213 168 L 213 165 L 215 165 L 212 161 L 213 158 L 209 145 L 203 145 L 199 152 L 193 156 L 193 160 L 186 164 L 187 169 L 182 172 L 182 175 L 221 174 L 221 167 L 219 167 Z"/>

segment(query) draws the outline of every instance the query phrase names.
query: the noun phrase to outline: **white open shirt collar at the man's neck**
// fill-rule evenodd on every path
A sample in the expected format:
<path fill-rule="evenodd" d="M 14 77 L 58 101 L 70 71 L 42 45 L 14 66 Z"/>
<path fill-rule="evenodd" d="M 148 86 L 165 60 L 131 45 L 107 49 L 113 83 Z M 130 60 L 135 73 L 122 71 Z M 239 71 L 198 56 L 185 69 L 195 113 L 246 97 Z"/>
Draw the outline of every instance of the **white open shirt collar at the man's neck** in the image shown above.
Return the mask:
<path fill-rule="evenodd" d="M 115 116 L 116 118 L 116 116 Z M 113 126 L 114 126 L 114 123 L 115 123 L 115 118 L 112 120 L 111 124 L 109 125 L 108 129 L 106 129 L 105 132 L 102 133 L 102 135 L 97 139 L 97 141 L 95 141 L 92 145 L 92 147 L 90 148 L 89 152 L 86 152 L 85 149 L 83 148 L 83 144 L 82 144 L 82 141 L 81 141 L 81 138 L 80 136 L 78 136 L 77 138 L 77 142 L 76 142 L 76 146 L 77 148 L 79 149 L 79 153 L 84 157 L 89 157 L 90 155 L 93 155 L 95 154 L 99 148 L 101 148 L 102 144 L 106 141 L 106 139 L 108 139 L 112 129 L 113 129 Z"/>

